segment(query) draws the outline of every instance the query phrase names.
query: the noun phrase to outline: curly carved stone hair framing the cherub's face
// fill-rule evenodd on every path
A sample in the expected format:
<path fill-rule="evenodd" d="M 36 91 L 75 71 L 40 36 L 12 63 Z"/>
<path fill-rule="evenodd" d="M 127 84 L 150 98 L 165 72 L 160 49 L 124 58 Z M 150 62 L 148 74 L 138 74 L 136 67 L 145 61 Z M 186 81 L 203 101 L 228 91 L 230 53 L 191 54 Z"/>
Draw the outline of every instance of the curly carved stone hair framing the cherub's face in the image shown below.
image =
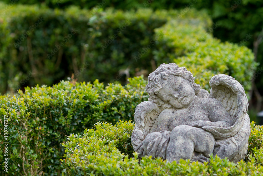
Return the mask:
<path fill-rule="evenodd" d="M 190 82 L 191 87 L 193 87 L 195 94 L 200 92 L 200 85 L 194 82 L 195 77 L 191 72 L 189 72 L 185 67 L 179 67 L 175 63 L 161 64 L 153 73 L 148 77 L 148 84 L 146 85 L 146 92 L 149 93 L 148 101 L 151 101 L 158 105 L 160 111 L 165 108 L 171 108 L 172 106 L 164 102 L 162 99 L 157 97 L 158 92 L 161 87 L 161 80 L 169 79 L 170 75 L 181 76 L 185 80 Z"/>

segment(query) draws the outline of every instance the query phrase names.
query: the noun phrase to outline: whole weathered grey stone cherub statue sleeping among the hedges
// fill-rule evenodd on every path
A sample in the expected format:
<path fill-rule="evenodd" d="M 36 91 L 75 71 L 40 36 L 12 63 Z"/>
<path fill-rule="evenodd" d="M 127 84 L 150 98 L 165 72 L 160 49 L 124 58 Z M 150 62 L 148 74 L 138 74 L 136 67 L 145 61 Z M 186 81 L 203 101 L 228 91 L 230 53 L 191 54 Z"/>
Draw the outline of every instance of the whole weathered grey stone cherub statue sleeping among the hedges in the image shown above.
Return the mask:
<path fill-rule="evenodd" d="M 149 75 L 149 101 L 135 109 L 131 136 L 139 157 L 208 161 L 209 154 L 240 161 L 247 154 L 250 119 L 243 86 L 225 74 L 210 80 L 210 94 L 191 72 L 161 64 Z"/>

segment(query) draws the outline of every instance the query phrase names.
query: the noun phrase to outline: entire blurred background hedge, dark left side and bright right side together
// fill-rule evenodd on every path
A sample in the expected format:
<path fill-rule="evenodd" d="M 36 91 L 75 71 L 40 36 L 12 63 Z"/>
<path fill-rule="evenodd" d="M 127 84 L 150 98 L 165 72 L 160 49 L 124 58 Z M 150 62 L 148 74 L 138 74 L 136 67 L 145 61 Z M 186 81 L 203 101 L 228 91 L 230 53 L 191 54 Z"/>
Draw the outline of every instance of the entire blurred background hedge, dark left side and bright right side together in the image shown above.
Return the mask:
<path fill-rule="evenodd" d="M 251 50 L 214 39 L 205 11 L 6 8 L 0 3 L 2 93 L 50 86 L 72 74 L 80 82 L 125 83 L 127 75 L 148 75 L 170 62 L 193 72 L 202 88 L 219 73 L 236 78 L 246 92 L 251 87 L 256 68 Z"/>

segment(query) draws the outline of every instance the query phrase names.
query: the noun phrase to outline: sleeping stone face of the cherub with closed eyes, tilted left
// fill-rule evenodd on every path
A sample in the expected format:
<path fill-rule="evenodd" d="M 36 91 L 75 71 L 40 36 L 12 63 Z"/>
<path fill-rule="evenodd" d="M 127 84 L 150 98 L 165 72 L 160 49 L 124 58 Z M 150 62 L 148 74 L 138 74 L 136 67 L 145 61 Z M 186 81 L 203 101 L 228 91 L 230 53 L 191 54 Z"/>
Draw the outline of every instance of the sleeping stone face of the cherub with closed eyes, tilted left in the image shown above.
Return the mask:
<path fill-rule="evenodd" d="M 175 108 L 183 108 L 195 98 L 194 89 L 183 77 L 170 75 L 168 79 L 161 81 L 161 86 L 157 97 Z"/>

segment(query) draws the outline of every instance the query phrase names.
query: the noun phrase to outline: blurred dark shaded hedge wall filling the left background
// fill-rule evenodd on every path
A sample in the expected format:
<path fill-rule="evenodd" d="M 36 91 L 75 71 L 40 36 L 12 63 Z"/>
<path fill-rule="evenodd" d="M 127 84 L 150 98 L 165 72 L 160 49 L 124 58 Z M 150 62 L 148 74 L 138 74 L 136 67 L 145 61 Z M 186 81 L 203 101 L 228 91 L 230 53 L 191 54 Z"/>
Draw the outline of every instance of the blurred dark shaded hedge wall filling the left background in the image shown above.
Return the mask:
<path fill-rule="evenodd" d="M 0 8 L 5 9 L 3 3 Z M 153 38 L 154 29 L 167 21 L 150 9 L 91 13 L 77 7 L 63 12 L 21 5 L 0 10 L 0 16 L 2 93 L 27 85 L 52 85 L 72 73 L 78 81 L 109 83 L 126 80 L 119 73 L 122 69 L 129 68 L 130 76 L 137 67 L 152 71 L 147 57 L 151 52 L 140 62 L 134 55 L 147 44 L 145 40 Z"/>

